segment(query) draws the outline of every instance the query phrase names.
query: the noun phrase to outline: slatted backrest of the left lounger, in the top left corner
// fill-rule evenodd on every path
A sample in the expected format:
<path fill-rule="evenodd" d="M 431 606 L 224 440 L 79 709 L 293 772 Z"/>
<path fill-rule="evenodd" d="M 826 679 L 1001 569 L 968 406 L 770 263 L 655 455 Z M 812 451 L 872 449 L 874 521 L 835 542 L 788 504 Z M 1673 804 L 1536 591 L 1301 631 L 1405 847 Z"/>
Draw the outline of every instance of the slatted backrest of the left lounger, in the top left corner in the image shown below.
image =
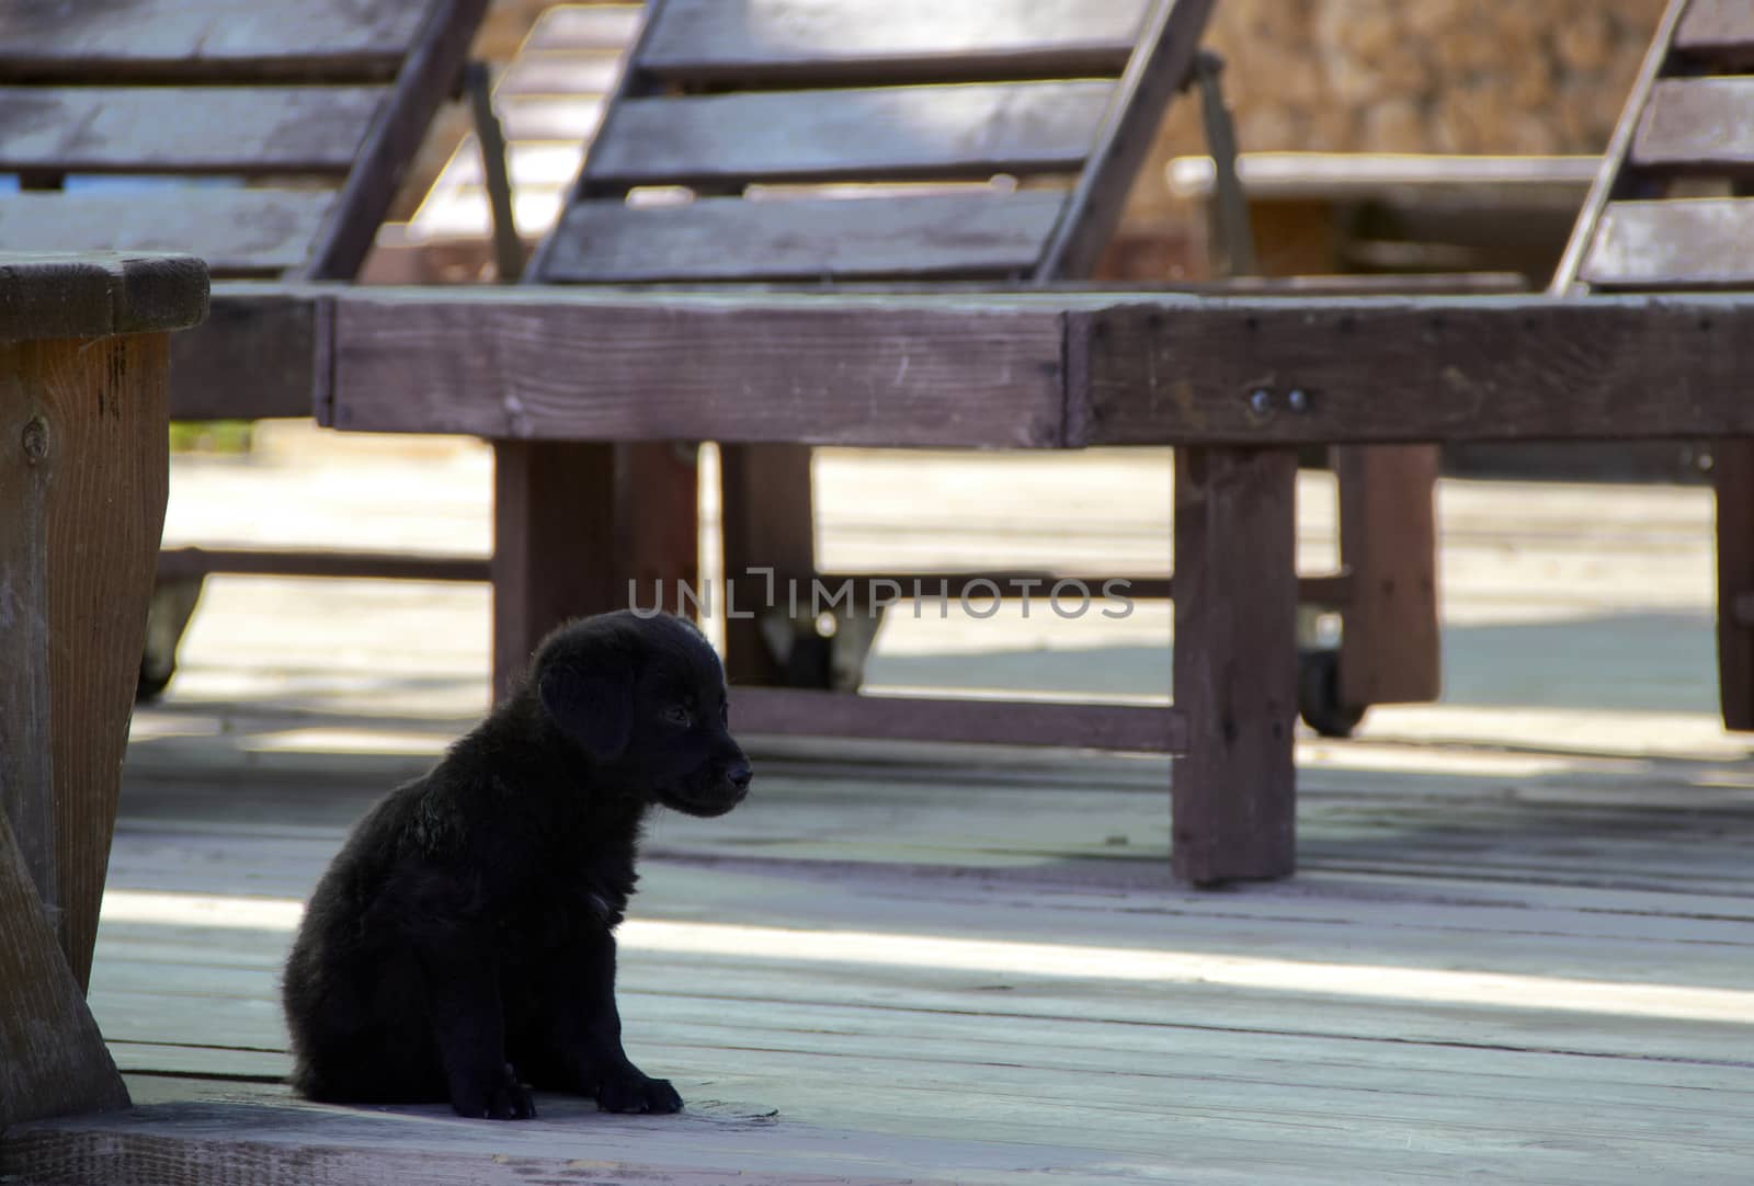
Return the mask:
<path fill-rule="evenodd" d="M 0 249 L 188 251 L 216 277 L 351 277 L 484 9 L 9 0 L 0 174 L 21 191 L 0 195 Z"/>

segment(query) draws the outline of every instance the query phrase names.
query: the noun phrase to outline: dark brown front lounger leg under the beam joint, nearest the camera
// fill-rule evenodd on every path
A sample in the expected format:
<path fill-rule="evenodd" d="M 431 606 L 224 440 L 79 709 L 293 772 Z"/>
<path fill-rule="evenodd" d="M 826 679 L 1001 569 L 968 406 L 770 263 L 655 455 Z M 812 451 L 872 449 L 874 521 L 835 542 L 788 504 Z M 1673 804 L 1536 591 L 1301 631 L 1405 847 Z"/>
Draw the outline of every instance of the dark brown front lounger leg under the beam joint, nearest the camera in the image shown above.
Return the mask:
<path fill-rule="evenodd" d="M 1296 453 L 1175 454 L 1175 874 L 1194 884 L 1296 863 Z"/>

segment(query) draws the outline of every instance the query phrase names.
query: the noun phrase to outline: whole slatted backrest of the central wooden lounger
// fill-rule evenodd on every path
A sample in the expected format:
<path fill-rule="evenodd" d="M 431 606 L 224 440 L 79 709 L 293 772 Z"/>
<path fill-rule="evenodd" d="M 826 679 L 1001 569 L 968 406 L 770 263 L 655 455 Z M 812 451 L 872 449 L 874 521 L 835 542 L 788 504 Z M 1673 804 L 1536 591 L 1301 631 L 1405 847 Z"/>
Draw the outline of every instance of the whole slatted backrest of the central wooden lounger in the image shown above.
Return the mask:
<path fill-rule="evenodd" d="M 1087 274 L 1212 0 L 651 0 L 535 282 Z"/>

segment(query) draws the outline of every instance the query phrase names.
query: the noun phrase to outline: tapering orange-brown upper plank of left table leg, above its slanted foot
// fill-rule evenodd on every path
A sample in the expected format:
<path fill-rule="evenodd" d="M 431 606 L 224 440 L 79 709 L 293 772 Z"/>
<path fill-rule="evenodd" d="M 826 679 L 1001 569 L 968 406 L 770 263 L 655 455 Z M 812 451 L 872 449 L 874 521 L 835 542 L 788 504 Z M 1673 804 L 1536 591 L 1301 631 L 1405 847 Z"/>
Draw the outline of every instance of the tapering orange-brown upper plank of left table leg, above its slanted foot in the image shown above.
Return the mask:
<path fill-rule="evenodd" d="M 26 668 L 9 682 L 33 684 L 19 707 L 47 723 L 53 784 L 49 804 L 21 802 L 32 781 L 7 788 L 5 798 L 44 909 L 84 988 L 165 523 L 167 335 L 18 342 L 0 351 L 7 353 L 0 372 L 19 382 L 5 400 L 0 447 L 12 477 L 0 482 L 0 498 L 21 535 L 14 542 L 28 549 L 7 565 L 7 595 L 23 611 L 12 621 L 19 649 L 9 661 L 16 656 Z"/>

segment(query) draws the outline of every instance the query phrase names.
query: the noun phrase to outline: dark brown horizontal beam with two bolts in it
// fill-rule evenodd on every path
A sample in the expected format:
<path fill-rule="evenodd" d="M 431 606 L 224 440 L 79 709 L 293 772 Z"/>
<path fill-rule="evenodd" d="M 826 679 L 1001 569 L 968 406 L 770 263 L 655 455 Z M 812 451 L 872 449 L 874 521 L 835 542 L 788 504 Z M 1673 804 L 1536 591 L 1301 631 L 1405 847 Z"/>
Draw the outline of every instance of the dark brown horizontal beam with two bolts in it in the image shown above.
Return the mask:
<path fill-rule="evenodd" d="M 1754 298 L 1161 300 L 1072 314 L 1068 444 L 1754 433 Z"/>

